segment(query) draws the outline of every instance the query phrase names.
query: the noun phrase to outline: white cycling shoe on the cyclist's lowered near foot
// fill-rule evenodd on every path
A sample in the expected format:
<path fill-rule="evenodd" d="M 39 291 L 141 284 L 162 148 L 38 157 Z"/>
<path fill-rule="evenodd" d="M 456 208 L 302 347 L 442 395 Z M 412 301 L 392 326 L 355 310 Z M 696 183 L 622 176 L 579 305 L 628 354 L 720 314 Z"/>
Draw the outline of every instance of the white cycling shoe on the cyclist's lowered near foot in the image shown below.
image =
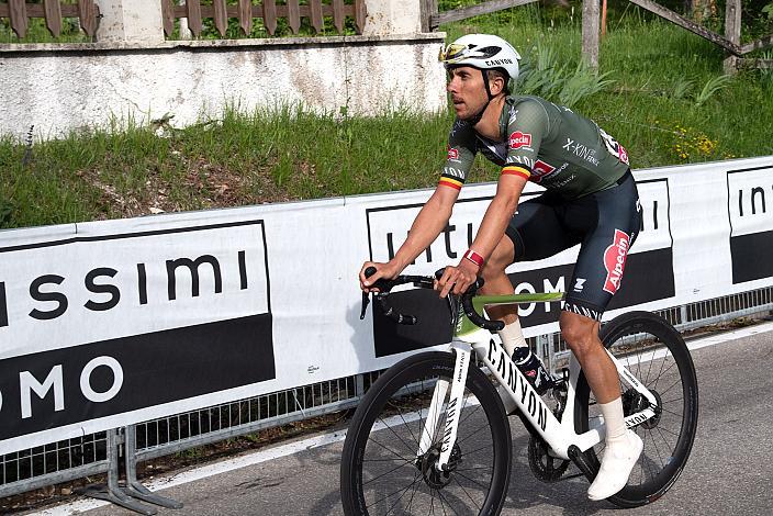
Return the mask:
<path fill-rule="evenodd" d="M 606 500 L 625 487 L 643 448 L 641 438 L 632 430 L 626 430 L 625 439 L 607 445 L 598 474 L 587 489 L 587 497 Z"/>

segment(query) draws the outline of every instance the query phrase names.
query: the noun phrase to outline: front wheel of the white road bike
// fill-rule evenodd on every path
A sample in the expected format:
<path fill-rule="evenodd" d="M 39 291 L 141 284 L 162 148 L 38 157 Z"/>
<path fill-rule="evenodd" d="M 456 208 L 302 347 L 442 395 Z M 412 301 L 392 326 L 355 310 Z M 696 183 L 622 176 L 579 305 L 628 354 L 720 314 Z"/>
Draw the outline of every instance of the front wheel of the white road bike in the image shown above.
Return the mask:
<path fill-rule="evenodd" d="M 368 390 L 349 424 L 341 455 L 340 495 L 346 515 L 500 514 L 509 483 L 511 431 L 502 401 L 480 369 L 471 366 L 467 377 L 451 456 L 456 469 L 447 479 L 432 473 L 442 414 L 433 447 L 421 460 L 416 458 L 432 385 L 438 378 L 450 381 L 453 364 L 449 352 L 414 355 L 390 368 Z M 490 462 L 490 471 L 481 462 Z M 438 479 L 447 484 L 438 486 Z M 407 481 L 407 487 L 397 486 L 401 481 Z"/>

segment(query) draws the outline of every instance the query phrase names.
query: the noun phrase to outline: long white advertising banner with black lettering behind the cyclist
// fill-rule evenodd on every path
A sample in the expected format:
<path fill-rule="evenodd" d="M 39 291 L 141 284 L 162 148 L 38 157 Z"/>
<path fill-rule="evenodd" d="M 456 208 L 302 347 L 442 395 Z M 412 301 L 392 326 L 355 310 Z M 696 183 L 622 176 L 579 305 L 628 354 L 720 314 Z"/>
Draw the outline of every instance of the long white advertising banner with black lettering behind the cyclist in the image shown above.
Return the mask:
<path fill-rule="evenodd" d="M 643 221 L 606 318 L 773 284 L 773 157 L 637 170 Z M 495 184 L 464 187 L 406 273 L 456 263 Z M 448 341 L 445 302 L 360 321 L 357 273 L 385 261 L 430 190 L 0 233 L 0 455 L 389 367 Z M 539 194 L 530 186 L 525 198 Z M 564 291 L 576 248 L 508 269 Z M 520 306 L 528 336 L 560 306 Z"/>

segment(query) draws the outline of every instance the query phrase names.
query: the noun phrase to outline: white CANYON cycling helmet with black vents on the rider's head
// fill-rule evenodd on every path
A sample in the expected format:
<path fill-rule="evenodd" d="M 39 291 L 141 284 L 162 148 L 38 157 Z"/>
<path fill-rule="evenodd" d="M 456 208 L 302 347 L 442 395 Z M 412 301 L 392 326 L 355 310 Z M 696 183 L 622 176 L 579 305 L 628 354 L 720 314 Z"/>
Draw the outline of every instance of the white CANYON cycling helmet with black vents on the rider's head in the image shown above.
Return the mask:
<path fill-rule="evenodd" d="M 500 68 L 513 81 L 518 79 L 520 55 L 513 45 L 492 34 L 468 34 L 440 48 L 440 61 L 446 66 L 472 66 L 481 70 Z"/>

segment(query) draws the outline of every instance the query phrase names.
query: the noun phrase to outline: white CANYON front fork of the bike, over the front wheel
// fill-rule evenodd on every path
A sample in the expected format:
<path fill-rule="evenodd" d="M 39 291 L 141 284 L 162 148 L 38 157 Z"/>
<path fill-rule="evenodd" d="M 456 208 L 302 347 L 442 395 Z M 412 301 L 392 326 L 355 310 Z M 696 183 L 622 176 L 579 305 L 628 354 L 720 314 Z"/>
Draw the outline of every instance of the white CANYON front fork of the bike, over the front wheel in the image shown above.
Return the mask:
<path fill-rule="evenodd" d="M 448 462 L 451 457 L 453 445 L 457 440 L 457 430 L 459 428 L 459 418 L 464 399 L 464 384 L 467 382 L 467 372 L 470 367 L 472 357 L 472 347 L 462 341 L 451 343 L 451 347 L 456 349 L 456 363 L 453 366 L 453 378 L 450 382 L 450 396 L 448 404 L 445 407 L 446 423 L 442 428 L 442 438 L 440 442 L 440 457 L 435 464 L 439 471 L 448 470 Z M 429 404 L 427 418 L 424 422 L 422 438 L 419 440 L 416 457 L 423 457 L 433 446 L 434 438 L 438 431 L 438 422 L 444 410 L 444 400 L 448 393 L 449 382 L 447 380 L 438 380 L 433 392 L 433 401 Z"/>

